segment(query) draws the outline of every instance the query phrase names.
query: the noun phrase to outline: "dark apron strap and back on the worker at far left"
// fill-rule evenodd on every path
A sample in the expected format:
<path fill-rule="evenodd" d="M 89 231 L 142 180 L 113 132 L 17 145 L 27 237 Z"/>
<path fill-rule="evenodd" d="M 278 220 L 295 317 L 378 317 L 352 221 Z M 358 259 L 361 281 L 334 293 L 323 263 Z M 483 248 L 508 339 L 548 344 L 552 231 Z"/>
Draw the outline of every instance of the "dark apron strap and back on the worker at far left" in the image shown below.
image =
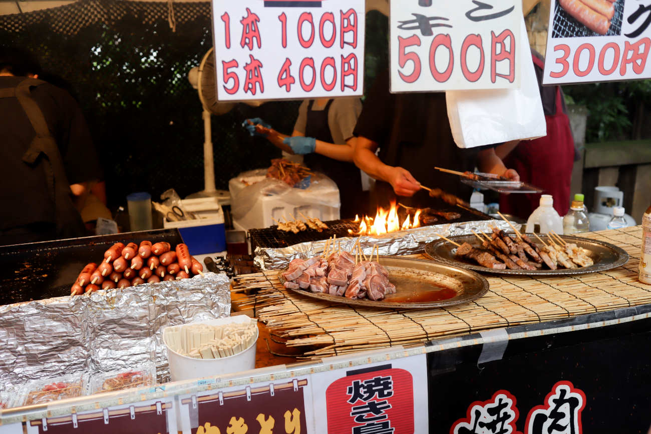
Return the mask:
<path fill-rule="evenodd" d="M 72 238 L 85 236 L 86 230 L 79 211 L 72 203 L 70 183 L 64 169 L 61 152 L 52 137 L 48 122 L 36 100 L 30 94 L 31 87 L 44 84 L 45 81 L 26 78 L 15 88 L 0 89 L 0 98 L 16 98 L 29 118 L 36 133 L 22 161 L 30 167 L 40 165 L 48 181 L 48 194 L 55 207 L 56 236 Z"/>

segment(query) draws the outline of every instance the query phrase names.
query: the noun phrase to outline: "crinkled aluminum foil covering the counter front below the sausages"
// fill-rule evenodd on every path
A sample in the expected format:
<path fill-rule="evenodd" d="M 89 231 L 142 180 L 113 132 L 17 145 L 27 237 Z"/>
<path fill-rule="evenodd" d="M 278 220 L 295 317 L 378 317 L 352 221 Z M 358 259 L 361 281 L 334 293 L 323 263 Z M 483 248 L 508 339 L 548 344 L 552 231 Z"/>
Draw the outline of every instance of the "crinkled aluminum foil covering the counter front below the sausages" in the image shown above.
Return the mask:
<path fill-rule="evenodd" d="M 153 361 L 169 381 L 162 329 L 230 315 L 230 282 L 205 273 L 87 296 L 0 306 L 0 388 Z"/>

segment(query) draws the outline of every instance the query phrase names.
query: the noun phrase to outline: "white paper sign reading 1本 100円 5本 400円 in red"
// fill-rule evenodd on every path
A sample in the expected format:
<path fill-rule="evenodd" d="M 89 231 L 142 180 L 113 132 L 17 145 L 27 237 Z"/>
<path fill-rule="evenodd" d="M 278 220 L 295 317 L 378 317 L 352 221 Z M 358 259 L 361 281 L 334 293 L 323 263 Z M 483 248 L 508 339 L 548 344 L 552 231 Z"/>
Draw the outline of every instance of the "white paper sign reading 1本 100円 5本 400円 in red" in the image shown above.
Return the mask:
<path fill-rule="evenodd" d="M 363 0 L 213 0 L 219 101 L 360 96 Z"/>

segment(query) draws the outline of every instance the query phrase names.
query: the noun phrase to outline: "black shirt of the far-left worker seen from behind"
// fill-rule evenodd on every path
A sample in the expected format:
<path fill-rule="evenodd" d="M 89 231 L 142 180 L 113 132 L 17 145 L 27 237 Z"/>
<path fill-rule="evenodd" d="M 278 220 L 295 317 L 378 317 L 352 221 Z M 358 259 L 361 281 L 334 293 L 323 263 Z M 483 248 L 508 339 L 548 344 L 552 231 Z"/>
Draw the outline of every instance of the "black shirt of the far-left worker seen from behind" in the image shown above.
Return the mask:
<path fill-rule="evenodd" d="M 24 77 L 0 76 L 0 88 L 16 87 Z M 77 102 L 48 83 L 31 89 L 57 142 L 71 184 L 102 179 L 102 169 Z M 33 223 L 54 223 L 54 204 L 45 172 L 38 162 L 21 161 L 35 137 L 25 111 L 16 98 L 0 98 L 0 230 Z M 40 161 L 40 160 L 39 160 Z"/>

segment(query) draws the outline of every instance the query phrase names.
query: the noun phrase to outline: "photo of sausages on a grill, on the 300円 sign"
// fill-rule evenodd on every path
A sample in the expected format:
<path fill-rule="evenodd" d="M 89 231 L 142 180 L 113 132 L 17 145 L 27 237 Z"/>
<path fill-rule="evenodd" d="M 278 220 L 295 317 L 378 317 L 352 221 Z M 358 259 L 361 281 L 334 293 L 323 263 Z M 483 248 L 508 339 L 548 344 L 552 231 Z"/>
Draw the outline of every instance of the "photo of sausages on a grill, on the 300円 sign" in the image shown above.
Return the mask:
<path fill-rule="evenodd" d="M 619 36 L 624 0 L 557 0 L 552 38 Z"/>

